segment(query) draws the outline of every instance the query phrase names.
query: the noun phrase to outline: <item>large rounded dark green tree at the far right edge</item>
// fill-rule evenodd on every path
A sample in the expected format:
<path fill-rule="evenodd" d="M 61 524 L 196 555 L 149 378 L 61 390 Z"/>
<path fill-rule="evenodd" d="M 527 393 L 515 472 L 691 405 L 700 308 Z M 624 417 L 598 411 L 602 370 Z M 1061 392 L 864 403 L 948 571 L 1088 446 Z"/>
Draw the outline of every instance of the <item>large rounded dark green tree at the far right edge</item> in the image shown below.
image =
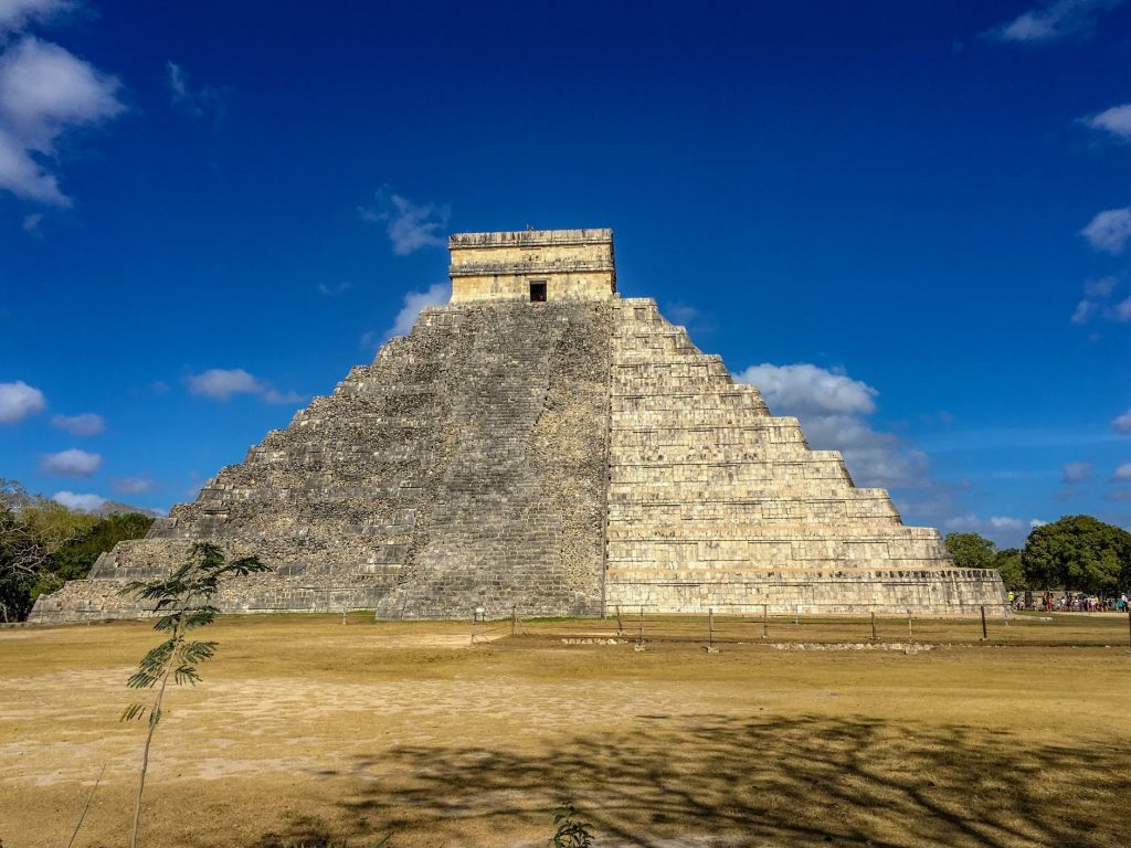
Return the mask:
<path fill-rule="evenodd" d="M 1033 588 L 1113 592 L 1131 585 L 1131 533 L 1091 516 L 1037 527 L 1021 552 Z"/>

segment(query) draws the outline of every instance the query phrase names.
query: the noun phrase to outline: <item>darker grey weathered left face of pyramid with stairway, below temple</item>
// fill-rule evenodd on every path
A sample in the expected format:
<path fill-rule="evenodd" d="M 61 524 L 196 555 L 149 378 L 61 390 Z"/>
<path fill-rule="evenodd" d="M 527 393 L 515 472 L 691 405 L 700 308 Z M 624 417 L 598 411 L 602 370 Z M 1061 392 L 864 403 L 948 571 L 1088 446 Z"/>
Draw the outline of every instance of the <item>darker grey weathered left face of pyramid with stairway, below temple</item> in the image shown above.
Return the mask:
<path fill-rule="evenodd" d="M 119 589 L 196 540 L 275 568 L 227 587 L 228 612 L 599 612 L 608 322 L 593 303 L 425 310 L 33 620 L 136 616 Z"/>

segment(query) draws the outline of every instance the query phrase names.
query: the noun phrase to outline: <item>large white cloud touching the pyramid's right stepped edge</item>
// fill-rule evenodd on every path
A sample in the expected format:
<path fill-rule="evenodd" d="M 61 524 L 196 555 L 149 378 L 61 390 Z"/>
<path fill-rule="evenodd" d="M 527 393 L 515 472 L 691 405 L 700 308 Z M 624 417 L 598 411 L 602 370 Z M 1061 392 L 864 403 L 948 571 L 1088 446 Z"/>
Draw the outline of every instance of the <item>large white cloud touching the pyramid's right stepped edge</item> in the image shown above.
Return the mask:
<path fill-rule="evenodd" d="M 927 458 L 863 416 L 875 410 L 875 389 L 847 374 L 808 363 L 754 365 L 735 374 L 753 383 L 778 415 L 794 415 L 813 448 L 839 450 L 861 485 L 922 485 Z"/>

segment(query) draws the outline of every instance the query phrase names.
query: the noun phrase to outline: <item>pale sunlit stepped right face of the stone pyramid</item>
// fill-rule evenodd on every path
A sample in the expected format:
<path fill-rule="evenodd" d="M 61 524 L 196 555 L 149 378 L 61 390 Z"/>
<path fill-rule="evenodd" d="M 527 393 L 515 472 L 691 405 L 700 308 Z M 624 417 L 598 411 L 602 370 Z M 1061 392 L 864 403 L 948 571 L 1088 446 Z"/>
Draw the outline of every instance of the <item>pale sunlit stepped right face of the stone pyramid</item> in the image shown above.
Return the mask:
<path fill-rule="evenodd" d="M 956 570 L 654 301 L 616 302 L 612 373 L 607 607 L 1002 611 L 996 572 Z"/>

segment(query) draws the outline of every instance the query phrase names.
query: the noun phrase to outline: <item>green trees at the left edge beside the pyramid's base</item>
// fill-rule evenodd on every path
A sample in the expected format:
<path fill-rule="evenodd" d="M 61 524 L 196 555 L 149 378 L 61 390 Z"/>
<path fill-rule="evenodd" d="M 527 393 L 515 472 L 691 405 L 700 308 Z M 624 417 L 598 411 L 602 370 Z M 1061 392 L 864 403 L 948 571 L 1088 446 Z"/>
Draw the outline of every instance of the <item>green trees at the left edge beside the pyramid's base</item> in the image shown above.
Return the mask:
<path fill-rule="evenodd" d="M 23 621 L 37 597 L 85 578 L 100 554 L 141 538 L 152 523 L 139 512 L 69 510 L 0 478 L 0 622 Z"/>

